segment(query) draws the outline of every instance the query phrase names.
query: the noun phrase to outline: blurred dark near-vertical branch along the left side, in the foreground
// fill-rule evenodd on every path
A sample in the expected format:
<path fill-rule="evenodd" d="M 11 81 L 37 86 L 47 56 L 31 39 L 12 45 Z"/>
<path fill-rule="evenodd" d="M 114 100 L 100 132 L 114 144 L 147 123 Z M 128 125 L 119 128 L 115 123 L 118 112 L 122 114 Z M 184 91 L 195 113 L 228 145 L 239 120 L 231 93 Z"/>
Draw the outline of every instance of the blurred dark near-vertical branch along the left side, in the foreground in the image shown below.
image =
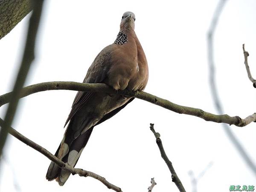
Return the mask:
<path fill-rule="evenodd" d="M 20 70 L 17 74 L 15 85 L 13 88 L 12 95 L 10 96 L 10 103 L 6 111 L 5 121 L 0 130 L 0 156 L 3 151 L 3 146 L 6 142 L 8 129 L 12 125 L 12 120 L 14 119 L 18 101 L 20 98 L 20 91 L 22 90 L 23 84 L 26 80 L 26 76 L 29 72 L 32 61 L 34 60 L 34 47 L 35 38 L 38 31 L 38 25 L 41 17 L 41 11 L 43 7 L 43 0 L 33 0 L 32 1 L 33 13 L 29 20 L 26 46 L 23 53 L 23 58 L 20 64 Z"/>

